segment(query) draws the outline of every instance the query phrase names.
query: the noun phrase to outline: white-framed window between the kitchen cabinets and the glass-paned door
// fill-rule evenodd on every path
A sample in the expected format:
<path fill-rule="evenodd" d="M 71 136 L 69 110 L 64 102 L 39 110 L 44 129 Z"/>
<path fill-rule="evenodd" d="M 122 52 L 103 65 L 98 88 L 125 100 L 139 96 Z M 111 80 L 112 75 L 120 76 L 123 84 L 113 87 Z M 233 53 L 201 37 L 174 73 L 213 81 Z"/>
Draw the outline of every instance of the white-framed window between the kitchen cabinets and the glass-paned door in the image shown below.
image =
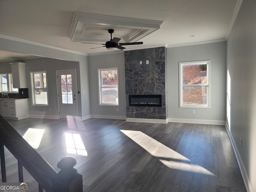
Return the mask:
<path fill-rule="evenodd" d="M 46 72 L 30 72 L 33 105 L 48 106 Z"/>

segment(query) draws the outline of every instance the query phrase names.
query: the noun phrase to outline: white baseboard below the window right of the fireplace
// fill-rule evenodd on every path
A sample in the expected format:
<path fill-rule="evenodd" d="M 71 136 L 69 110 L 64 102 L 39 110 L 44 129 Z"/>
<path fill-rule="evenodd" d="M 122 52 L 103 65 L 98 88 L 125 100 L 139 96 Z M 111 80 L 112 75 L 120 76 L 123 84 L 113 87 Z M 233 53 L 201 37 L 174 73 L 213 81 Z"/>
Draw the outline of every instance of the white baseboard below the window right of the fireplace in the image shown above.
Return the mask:
<path fill-rule="evenodd" d="M 168 122 L 225 125 L 225 121 L 205 119 L 168 118 Z"/>

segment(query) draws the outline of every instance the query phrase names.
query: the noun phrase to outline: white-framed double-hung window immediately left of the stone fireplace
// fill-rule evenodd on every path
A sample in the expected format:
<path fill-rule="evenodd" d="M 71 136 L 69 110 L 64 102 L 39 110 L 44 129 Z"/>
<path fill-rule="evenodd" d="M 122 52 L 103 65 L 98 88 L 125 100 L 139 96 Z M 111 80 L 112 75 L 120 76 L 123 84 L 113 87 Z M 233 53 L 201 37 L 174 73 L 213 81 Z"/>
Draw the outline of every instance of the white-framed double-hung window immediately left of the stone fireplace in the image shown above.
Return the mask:
<path fill-rule="evenodd" d="M 98 69 L 99 105 L 119 106 L 118 68 Z"/>

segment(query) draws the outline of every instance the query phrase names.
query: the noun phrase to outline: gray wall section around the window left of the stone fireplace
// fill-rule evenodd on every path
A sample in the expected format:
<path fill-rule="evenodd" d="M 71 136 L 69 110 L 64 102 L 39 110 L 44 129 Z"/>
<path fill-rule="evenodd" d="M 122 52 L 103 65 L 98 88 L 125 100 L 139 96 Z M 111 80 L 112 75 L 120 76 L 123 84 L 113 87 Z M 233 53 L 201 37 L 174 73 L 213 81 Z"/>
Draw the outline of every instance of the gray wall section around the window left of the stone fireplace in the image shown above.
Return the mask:
<path fill-rule="evenodd" d="M 124 53 L 88 56 L 90 82 L 90 109 L 92 117 L 126 118 Z M 120 106 L 99 106 L 98 68 L 118 67 Z M 116 111 L 118 108 L 118 111 Z"/>

